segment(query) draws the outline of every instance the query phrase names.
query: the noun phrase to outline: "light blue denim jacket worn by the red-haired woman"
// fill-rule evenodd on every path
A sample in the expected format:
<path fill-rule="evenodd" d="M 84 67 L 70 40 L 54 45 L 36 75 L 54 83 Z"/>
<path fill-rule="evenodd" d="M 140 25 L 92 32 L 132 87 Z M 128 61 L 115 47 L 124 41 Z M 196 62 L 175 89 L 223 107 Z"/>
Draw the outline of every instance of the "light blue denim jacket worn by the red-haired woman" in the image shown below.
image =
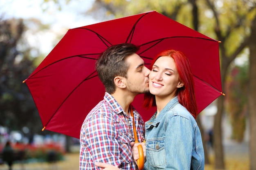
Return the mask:
<path fill-rule="evenodd" d="M 145 123 L 145 170 L 204 170 L 204 148 L 193 116 L 174 97 Z"/>

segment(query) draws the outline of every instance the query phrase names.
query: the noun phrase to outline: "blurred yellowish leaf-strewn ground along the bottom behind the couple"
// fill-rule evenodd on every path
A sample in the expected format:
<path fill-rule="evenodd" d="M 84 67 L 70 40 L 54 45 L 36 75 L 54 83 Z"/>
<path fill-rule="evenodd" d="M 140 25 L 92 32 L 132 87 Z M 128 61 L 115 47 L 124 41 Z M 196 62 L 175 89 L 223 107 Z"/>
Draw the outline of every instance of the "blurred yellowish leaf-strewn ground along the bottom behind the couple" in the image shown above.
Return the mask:
<path fill-rule="evenodd" d="M 214 158 L 210 156 L 210 162 Z M 249 170 L 248 155 L 231 155 L 225 158 L 225 170 Z M 8 170 L 7 165 L 0 165 L 0 170 Z M 22 165 L 16 163 L 13 170 L 22 170 Z M 23 170 L 79 170 L 79 153 L 65 154 L 64 160 L 58 163 L 25 163 Z M 205 170 L 215 170 L 213 164 L 206 165 Z"/>

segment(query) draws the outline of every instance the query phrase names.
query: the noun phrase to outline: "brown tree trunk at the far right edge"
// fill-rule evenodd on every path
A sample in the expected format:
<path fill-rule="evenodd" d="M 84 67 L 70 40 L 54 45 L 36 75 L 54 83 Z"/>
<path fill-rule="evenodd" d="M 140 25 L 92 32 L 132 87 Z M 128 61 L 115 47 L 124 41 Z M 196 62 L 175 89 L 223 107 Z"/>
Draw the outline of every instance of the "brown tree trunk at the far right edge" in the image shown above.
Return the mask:
<path fill-rule="evenodd" d="M 248 84 L 248 108 L 249 108 L 249 124 L 250 124 L 250 144 L 249 144 L 249 161 L 250 161 L 250 170 L 256 170 L 256 18 L 252 21 L 251 26 L 251 36 L 249 40 L 249 84 Z"/>

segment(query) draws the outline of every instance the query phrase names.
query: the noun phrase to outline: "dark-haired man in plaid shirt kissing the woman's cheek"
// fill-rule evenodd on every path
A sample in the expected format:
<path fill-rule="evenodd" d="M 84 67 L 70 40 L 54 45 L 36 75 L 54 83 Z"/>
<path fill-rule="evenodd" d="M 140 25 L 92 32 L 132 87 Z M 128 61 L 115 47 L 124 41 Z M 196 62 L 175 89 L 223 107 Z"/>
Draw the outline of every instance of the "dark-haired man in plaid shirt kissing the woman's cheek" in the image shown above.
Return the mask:
<path fill-rule="evenodd" d="M 130 145 L 134 135 L 129 106 L 136 95 L 149 91 L 150 73 L 137 51 L 133 44 L 110 46 L 96 63 L 106 93 L 83 122 L 80 170 L 101 169 L 94 165 L 95 162 L 109 163 L 120 169 L 136 169 Z M 138 140 L 143 142 L 144 121 L 135 109 L 133 114 Z"/>

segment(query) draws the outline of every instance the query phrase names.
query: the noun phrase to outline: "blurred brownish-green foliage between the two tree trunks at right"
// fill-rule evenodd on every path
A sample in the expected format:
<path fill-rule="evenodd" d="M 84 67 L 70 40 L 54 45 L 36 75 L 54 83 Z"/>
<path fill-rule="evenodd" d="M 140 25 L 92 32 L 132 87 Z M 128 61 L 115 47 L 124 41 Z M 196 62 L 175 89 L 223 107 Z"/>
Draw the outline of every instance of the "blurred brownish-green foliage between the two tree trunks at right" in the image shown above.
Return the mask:
<path fill-rule="evenodd" d="M 225 86 L 227 114 L 232 126 L 232 139 L 244 139 L 247 113 L 248 66 L 235 66 Z"/>

